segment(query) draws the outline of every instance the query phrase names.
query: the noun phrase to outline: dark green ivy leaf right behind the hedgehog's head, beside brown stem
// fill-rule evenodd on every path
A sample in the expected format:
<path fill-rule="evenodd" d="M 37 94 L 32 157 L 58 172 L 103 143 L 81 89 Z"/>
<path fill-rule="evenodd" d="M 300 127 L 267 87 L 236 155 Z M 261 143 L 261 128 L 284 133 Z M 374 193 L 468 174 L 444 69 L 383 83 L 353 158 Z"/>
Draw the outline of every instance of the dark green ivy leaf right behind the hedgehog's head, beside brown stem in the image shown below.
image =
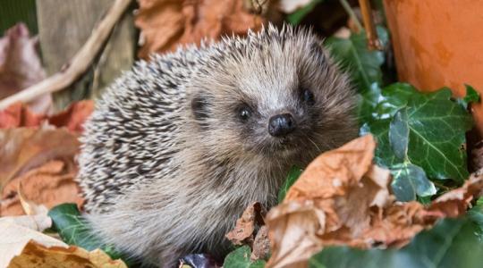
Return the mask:
<path fill-rule="evenodd" d="M 377 26 L 377 34 L 383 46 L 388 41 L 387 30 Z M 382 84 L 383 73 L 381 66 L 385 62 L 382 51 L 369 51 L 368 39 L 365 31 L 352 33 L 350 38 L 327 38 L 326 46 L 332 56 L 341 64 L 345 71 L 349 71 L 354 84 L 360 93 L 371 88 L 373 83 Z"/>

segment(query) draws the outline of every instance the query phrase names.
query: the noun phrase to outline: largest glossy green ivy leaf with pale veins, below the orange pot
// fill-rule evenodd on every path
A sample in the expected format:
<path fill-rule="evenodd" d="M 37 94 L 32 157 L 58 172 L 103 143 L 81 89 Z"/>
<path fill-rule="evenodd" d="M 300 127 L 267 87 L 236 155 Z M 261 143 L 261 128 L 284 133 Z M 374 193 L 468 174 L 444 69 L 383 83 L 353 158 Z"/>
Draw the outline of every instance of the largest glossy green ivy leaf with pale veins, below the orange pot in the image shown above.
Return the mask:
<path fill-rule="evenodd" d="M 408 159 L 422 167 L 429 178 L 465 180 L 468 171 L 462 145 L 465 132 L 472 126 L 470 113 L 451 100 L 449 89 L 430 94 L 419 93 L 404 84 L 396 84 L 389 89 L 383 89 L 384 100 L 379 104 L 384 103 L 384 113 L 389 119 L 368 121 L 360 131 L 376 136 L 376 162 L 389 168 L 401 163 L 394 156 L 402 158 L 406 147 L 406 140 L 402 137 L 408 137 Z M 390 133 L 391 125 L 393 133 Z M 403 132 L 397 133 L 397 130 Z M 402 145 L 398 144 L 401 141 Z"/>

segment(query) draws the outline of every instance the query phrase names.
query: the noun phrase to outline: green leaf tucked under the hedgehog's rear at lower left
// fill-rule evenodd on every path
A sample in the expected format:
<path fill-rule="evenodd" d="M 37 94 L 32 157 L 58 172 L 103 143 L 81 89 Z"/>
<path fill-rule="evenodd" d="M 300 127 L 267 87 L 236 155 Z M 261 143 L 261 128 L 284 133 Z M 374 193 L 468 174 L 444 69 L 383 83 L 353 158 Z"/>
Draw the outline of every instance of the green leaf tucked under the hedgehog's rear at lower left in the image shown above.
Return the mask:
<path fill-rule="evenodd" d="M 122 258 L 126 261 L 123 253 L 117 251 L 114 246 L 106 245 L 95 235 L 95 230 L 90 230 L 88 222 L 80 215 L 77 205 L 61 204 L 53 207 L 48 216 L 52 218 L 53 230 L 57 231 L 65 243 L 75 245 L 87 250 L 101 248 L 113 259 Z M 126 262 L 127 264 L 127 262 Z"/>

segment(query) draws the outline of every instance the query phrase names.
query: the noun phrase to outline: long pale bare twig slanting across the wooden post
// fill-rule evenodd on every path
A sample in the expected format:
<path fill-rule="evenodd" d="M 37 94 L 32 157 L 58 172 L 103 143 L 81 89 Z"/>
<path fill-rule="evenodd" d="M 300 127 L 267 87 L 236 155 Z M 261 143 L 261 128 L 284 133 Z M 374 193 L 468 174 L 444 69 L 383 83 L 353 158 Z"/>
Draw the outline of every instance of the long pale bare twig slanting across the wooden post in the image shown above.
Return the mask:
<path fill-rule="evenodd" d="M 115 23 L 121 19 L 130 4 L 131 0 L 116 0 L 104 19 L 99 21 L 96 28 L 92 30 L 84 46 L 73 56 L 70 63 L 66 63 L 61 71 L 56 72 L 46 80 L 0 100 L 0 110 L 13 103 L 30 102 L 38 96 L 70 86 L 82 73 L 88 70 L 90 63 L 100 52 L 109 34 L 114 29 Z"/>

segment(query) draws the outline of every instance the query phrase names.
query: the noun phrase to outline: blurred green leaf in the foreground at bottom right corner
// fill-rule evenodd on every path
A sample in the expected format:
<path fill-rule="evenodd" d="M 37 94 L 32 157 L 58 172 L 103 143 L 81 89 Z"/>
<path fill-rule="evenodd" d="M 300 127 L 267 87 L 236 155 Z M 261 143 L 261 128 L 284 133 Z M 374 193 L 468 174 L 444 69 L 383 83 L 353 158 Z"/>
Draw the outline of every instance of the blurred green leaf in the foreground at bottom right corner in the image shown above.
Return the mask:
<path fill-rule="evenodd" d="M 445 219 L 400 250 L 327 247 L 309 259 L 309 267 L 477 268 L 483 264 L 483 243 L 476 230 L 468 219 Z"/>

